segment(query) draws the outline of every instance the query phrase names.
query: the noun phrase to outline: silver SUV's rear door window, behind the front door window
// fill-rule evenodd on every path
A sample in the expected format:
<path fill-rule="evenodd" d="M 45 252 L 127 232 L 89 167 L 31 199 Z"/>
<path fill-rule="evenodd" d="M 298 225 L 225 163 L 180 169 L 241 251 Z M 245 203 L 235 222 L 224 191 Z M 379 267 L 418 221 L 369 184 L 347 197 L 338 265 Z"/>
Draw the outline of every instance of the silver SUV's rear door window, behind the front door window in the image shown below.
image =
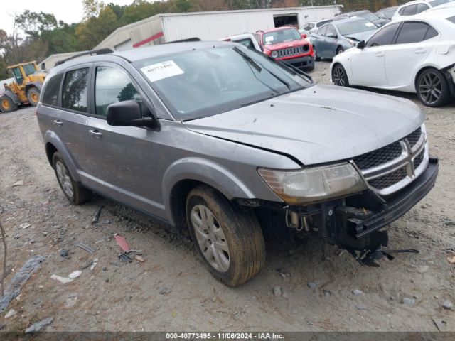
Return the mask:
<path fill-rule="evenodd" d="M 87 112 L 89 74 L 88 67 L 66 72 L 62 97 L 62 106 L 65 109 Z"/>

